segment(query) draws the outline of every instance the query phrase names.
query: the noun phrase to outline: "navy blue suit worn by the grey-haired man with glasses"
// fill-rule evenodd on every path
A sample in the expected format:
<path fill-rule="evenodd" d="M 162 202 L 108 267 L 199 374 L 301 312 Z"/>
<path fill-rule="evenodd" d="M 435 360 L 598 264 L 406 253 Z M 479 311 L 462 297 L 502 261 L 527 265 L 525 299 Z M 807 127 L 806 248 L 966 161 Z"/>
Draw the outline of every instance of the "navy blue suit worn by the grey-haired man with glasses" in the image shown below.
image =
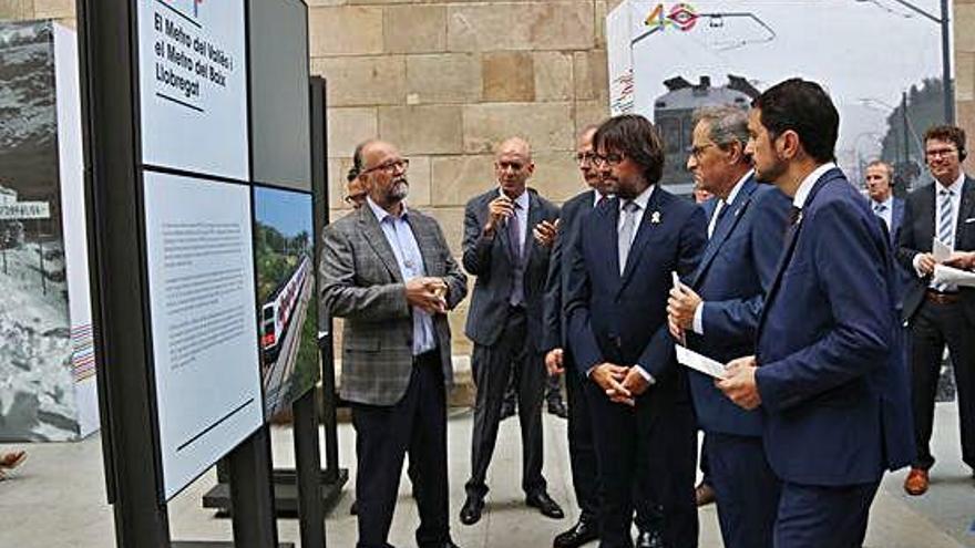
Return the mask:
<path fill-rule="evenodd" d="M 755 353 L 764 293 L 782 255 L 789 198 L 747 179 L 718 213 L 701 263 L 690 278 L 704 300 L 704 334 L 687 331 L 688 345 L 727 363 Z M 710 376 L 689 371 L 698 425 L 708 436 L 711 484 L 727 548 L 772 546 L 779 482 L 762 449 L 760 411 L 745 411 Z"/>

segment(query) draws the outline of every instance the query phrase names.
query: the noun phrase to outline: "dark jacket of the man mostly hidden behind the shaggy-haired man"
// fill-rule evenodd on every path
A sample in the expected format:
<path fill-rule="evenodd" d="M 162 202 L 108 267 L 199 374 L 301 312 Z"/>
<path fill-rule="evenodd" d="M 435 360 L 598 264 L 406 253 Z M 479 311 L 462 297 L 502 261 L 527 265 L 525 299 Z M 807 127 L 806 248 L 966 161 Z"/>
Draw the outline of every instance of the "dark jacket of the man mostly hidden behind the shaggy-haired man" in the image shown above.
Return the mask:
<path fill-rule="evenodd" d="M 578 219 L 583 214 L 593 209 L 596 201 L 596 192 L 586 190 L 575 195 L 562 205 L 562 216 L 558 221 L 558 237 L 552 246 L 552 257 L 548 260 L 548 278 L 545 282 L 545 313 L 544 329 L 545 343 L 543 350 L 566 349 L 566 320 L 563 311 L 568 303 L 568 293 L 564 291 L 568 287 L 568 272 L 572 269 L 572 250 L 578 238 Z"/>

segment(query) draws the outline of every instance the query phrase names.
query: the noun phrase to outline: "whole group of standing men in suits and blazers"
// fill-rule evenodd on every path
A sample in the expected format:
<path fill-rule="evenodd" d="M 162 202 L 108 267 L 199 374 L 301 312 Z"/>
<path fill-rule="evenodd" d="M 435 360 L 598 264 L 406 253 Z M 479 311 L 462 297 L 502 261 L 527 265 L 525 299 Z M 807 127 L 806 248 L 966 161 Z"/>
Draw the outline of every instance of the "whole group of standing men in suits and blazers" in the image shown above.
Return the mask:
<path fill-rule="evenodd" d="M 462 524 L 484 511 L 512 375 L 525 502 L 563 517 L 542 474 L 547 370 L 565 375 L 582 510 L 556 548 L 595 539 L 605 548 L 697 546 L 697 428 L 708 438 L 725 546 L 861 546 L 884 471 L 912 464 L 910 483 L 933 463 L 914 451 L 915 442 L 926 447 L 931 413 L 925 420 L 921 411 L 933 407 L 918 383 L 926 390 L 932 375 L 936 381 L 921 361 L 947 341 L 955 363 L 971 364 L 963 352 L 975 343 L 957 333 L 975 321 L 975 308 L 968 316 L 964 291 L 930 283 L 927 254 L 946 218 L 957 229 L 945 244 L 975 249 L 975 232 L 965 247 L 972 219 L 962 221 L 975 215 L 966 209 L 975 207 L 967 199 L 975 183 L 959 179 L 954 209 L 938 200 L 935 214 L 931 198 L 915 197 L 933 197 L 928 187 L 900 214 L 870 180 L 870 200 L 849 184 L 834 164 L 838 130 L 830 97 L 799 79 L 772 86 L 750 111 L 699 112 L 687 167 L 715 196 L 707 211 L 659 187 L 664 143 L 642 116 L 582 132 L 576 159 L 589 189 L 561 211 L 526 185 L 534 170 L 528 143 L 513 137 L 499 146 L 496 186 L 471 199 L 464 215 L 461 262 L 475 277 L 465 333 L 474 343 L 476 401 Z M 941 146 L 927 151 L 930 164 L 951 156 L 951 146 L 964 156 L 964 134 L 961 143 L 942 134 L 926 143 Z M 361 207 L 325 232 L 322 299 L 346 320 L 340 395 L 351 403 L 357 433 L 361 548 L 390 546 L 407 452 L 418 545 L 456 546 L 448 508 L 445 314 L 465 297 L 466 277 L 437 223 L 407 208 L 407 167 L 388 143 L 360 146 L 350 179 L 362 185 Z M 886 168 L 890 179 L 889 167 L 868 173 L 874 168 Z M 934 165 L 932 172 L 941 182 Z M 945 177 L 958 173 L 956 164 Z M 951 262 L 971 267 L 975 254 Z M 904 297 L 909 283 L 921 287 L 917 302 L 912 292 Z M 911 307 L 913 414 L 922 416 L 915 435 L 901 318 Z M 677 347 L 727 363 L 723 375 L 679 364 Z M 966 374 L 956 371 L 972 464 Z"/>

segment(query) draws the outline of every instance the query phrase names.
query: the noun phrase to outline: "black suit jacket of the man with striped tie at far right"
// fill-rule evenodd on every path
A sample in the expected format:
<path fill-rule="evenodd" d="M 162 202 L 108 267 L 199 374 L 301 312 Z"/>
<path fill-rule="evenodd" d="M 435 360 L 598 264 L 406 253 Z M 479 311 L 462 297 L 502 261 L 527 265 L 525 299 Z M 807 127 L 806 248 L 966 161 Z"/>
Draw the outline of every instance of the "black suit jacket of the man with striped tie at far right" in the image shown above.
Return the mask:
<path fill-rule="evenodd" d="M 924 291 L 931 282 L 930 276 L 917 277 L 913 261 L 915 255 L 931 252 L 931 242 L 934 239 L 935 192 L 934 183 L 921 187 L 907 196 L 904 207 L 897 260 L 911 275 L 904 296 L 904 320 L 909 322 L 924 300 Z M 975 250 L 975 179 L 967 175 L 962 187 L 962 205 L 956 217 L 955 250 Z M 962 288 L 961 292 L 965 316 L 968 321 L 975 323 L 975 290 Z"/>

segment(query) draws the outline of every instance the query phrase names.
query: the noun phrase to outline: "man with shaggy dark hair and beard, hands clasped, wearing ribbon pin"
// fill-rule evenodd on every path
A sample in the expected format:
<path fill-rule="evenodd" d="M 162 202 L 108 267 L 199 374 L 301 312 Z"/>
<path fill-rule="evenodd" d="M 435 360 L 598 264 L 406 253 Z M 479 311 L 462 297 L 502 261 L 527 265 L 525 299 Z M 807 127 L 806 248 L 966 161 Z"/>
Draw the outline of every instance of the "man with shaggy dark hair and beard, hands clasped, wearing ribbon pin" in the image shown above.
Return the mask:
<path fill-rule="evenodd" d="M 640 506 L 657 503 L 666 546 L 695 547 L 697 436 L 687 376 L 668 345 L 666 303 L 671 272 L 697 268 L 705 214 L 657 186 L 664 144 L 643 116 L 610 118 L 594 142 L 601 176 L 617 196 L 579 219 L 566 316 L 573 361 L 588 379 L 599 546 L 632 547 L 634 508 L 650 515 L 656 508 Z"/>

